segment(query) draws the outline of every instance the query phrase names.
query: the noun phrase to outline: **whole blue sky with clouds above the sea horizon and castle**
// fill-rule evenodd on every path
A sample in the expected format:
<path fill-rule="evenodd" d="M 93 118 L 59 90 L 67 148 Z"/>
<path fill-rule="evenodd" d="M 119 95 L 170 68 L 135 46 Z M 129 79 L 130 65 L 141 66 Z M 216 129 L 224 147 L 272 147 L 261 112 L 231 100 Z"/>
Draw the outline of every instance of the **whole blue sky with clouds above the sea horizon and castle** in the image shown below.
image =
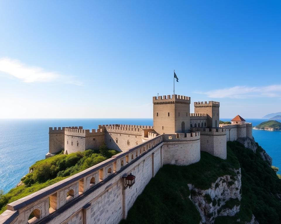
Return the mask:
<path fill-rule="evenodd" d="M 150 118 L 174 69 L 175 93 L 220 101 L 222 118 L 279 112 L 280 11 L 281 1 L 0 1 L 0 118 Z"/>

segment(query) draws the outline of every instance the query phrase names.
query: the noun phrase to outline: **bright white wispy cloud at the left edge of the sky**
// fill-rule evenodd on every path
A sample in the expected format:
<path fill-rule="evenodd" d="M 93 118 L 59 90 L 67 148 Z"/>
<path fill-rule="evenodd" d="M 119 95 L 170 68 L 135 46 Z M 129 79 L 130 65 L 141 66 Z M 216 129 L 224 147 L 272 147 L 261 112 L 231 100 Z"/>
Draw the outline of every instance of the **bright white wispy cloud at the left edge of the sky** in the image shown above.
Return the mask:
<path fill-rule="evenodd" d="M 41 67 L 28 66 L 11 58 L 0 58 L 0 72 L 20 79 L 25 83 L 35 82 L 60 82 L 74 85 L 82 85 L 72 76 L 61 75 L 53 71 L 45 71 Z"/>

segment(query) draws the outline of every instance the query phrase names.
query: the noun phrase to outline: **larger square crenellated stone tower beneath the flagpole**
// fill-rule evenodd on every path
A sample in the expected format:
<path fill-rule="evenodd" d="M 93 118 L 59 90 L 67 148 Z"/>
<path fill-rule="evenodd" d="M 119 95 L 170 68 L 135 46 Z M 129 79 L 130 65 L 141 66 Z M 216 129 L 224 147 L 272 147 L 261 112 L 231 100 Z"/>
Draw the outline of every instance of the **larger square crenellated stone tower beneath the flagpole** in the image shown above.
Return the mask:
<path fill-rule="evenodd" d="M 159 134 L 187 133 L 190 129 L 190 97 L 153 97 L 153 129 Z"/>

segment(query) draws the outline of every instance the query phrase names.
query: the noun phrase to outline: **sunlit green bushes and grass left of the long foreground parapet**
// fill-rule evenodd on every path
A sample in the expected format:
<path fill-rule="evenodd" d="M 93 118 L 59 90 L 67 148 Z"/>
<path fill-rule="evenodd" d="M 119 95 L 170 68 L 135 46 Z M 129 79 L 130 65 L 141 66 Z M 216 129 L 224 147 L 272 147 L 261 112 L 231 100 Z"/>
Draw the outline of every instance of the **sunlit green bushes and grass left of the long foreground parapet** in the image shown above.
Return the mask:
<path fill-rule="evenodd" d="M 119 152 L 116 150 L 109 150 L 104 143 L 99 150 L 89 149 L 69 155 L 60 153 L 35 162 L 30 167 L 31 173 L 21 179 L 24 185 L 11 189 L 7 194 L 0 190 L 0 214 L 6 210 L 6 204 L 83 171 L 117 153 Z"/>

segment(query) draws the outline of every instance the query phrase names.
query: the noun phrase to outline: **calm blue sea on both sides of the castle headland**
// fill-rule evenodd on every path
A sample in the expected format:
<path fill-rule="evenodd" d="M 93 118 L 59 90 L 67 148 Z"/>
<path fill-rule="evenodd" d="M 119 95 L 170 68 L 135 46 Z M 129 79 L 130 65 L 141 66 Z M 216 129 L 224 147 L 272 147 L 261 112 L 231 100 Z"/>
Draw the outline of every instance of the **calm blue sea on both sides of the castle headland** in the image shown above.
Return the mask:
<path fill-rule="evenodd" d="M 266 119 L 248 118 L 246 121 L 254 126 Z M 45 158 L 49 149 L 49 127 L 97 129 L 100 124 L 153 125 L 153 119 L 0 119 L 0 189 L 8 192 L 33 163 Z M 273 158 L 273 165 L 281 169 L 281 131 L 253 130 L 253 136 Z"/>

